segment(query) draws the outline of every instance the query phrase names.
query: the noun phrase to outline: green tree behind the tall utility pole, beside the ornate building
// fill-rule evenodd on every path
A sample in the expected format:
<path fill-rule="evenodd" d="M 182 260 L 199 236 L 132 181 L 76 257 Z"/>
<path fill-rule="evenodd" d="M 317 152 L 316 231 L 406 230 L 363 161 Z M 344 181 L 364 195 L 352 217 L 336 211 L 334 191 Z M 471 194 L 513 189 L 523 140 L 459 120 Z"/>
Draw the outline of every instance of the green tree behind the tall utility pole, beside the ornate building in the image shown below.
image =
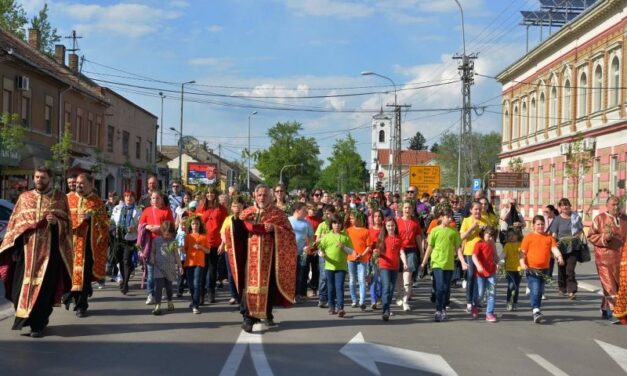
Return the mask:
<path fill-rule="evenodd" d="M 472 133 L 472 161 L 474 177 L 481 178 L 488 171 L 492 170 L 494 165 L 499 161 L 499 153 L 501 151 L 501 135 L 497 132 L 487 134 Z M 440 137 L 438 143 L 438 156 L 436 160 L 442 167 L 442 187 L 457 186 L 457 156 L 459 154 L 459 135 L 446 132 Z M 462 155 L 462 161 L 466 156 Z M 463 166 L 462 166 L 463 168 Z M 464 181 L 464 173 L 462 171 L 462 187 L 469 187 L 471 182 Z"/>

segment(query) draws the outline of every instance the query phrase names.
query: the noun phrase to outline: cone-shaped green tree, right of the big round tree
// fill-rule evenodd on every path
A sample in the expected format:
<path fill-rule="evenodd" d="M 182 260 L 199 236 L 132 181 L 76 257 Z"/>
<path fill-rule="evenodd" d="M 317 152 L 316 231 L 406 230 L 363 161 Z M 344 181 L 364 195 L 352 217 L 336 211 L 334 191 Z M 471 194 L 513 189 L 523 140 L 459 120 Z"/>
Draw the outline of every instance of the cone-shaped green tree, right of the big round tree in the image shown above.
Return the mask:
<path fill-rule="evenodd" d="M 364 191 L 368 181 L 366 162 L 357 153 L 357 141 L 348 135 L 335 141 L 329 165 L 320 174 L 319 186 L 330 192 Z"/>

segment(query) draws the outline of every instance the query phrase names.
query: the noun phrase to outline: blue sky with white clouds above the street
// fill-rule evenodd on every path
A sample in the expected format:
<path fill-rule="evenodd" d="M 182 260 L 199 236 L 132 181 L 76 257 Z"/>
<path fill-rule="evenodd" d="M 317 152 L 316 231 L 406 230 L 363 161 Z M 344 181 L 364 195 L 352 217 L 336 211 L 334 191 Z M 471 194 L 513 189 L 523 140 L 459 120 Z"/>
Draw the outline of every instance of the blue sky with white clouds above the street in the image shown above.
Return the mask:
<path fill-rule="evenodd" d="M 478 52 L 475 70 L 495 75 L 523 55 L 525 29 L 519 11 L 536 0 L 460 0 L 468 52 Z M 32 16 L 44 1 L 23 1 Z M 240 158 L 247 146 L 269 146 L 268 128 L 298 121 L 315 136 L 326 159 L 348 130 L 369 159 L 371 114 L 393 101 L 388 81 L 361 76 L 364 70 L 395 81 L 403 114 L 403 137 L 417 130 L 428 143 L 459 129 L 461 94 L 457 63 L 460 14 L 454 0 L 179 0 L 48 1 L 53 26 L 71 30 L 85 56 L 83 71 L 155 115 L 158 92 L 166 94 L 164 144 L 179 127 L 180 82 L 186 86 L 184 134 L 223 156 Z M 546 31 L 545 31 L 546 35 Z M 538 33 L 532 32 L 531 44 Z M 70 41 L 64 40 L 69 46 Z M 142 86 L 137 88 L 127 84 Z M 386 86 L 387 85 L 387 86 Z M 424 86 L 431 86 L 422 88 Z M 169 92 L 169 91 L 173 92 Z M 500 85 L 477 77 L 473 103 L 489 105 L 473 119 L 480 132 L 500 131 Z M 340 96 L 344 94 L 363 94 Z M 215 96 L 215 95 L 218 96 Z M 236 97 L 233 97 L 236 96 Z M 318 98 L 302 98 L 312 97 Z M 323 97 L 323 98 L 320 98 Z M 189 99 L 189 101 L 187 101 Z M 260 108 L 257 108 L 260 107 Z M 290 111 L 277 111 L 280 107 Z M 304 111 L 309 110 L 309 111 Z M 313 111 L 312 111 L 313 110 Z M 353 111 L 357 110 L 357 111 Z M 321 112 L 324 111 L 324 112 Z M 407 145 L 407 143 L 404 143 Z"/>

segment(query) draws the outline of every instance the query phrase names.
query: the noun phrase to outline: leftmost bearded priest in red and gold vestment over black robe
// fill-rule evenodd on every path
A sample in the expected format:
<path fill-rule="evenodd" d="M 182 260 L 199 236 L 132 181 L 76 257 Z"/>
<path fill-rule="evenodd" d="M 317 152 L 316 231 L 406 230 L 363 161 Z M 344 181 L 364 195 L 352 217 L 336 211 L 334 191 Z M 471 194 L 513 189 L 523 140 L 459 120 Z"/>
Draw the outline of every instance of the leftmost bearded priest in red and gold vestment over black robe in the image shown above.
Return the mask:
<path fill-rule="evenodd" d="M 70 288 L 72 243 L 63 192 L 52 188 L 52 172 L 35 171 L 35 189 L 20 195 L 0 245 L 0 278 L 15 308 L 14 330 L 30 326 L 41 337 L 55 303 Z"/>

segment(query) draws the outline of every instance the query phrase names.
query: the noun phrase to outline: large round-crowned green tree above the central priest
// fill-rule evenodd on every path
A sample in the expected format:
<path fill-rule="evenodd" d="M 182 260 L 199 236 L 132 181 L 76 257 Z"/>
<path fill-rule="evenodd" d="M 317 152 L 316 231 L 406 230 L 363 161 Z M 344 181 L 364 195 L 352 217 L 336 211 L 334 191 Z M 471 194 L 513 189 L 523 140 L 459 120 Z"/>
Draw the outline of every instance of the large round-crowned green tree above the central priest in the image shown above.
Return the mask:
<path fill-rule="evenodd" d="M 298 122 L 277 123 L 268 129 L 271 146 L 252 154 L 267 184 L 273 186 L 279 182 L 279 173 L 284 166 L 300 164 L 302 168 L 289 167 L 283 170 L 283 183 L 288 189 L 311 189 L 318 182 L 322 164 L 318 159 L 320 149 L 313 137 L 299 135 L 302 128 Z M 243 155 L 246 157 L 247 151 Z"/>

